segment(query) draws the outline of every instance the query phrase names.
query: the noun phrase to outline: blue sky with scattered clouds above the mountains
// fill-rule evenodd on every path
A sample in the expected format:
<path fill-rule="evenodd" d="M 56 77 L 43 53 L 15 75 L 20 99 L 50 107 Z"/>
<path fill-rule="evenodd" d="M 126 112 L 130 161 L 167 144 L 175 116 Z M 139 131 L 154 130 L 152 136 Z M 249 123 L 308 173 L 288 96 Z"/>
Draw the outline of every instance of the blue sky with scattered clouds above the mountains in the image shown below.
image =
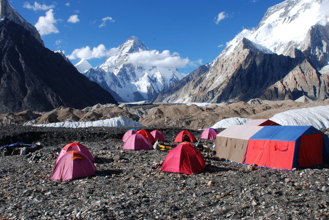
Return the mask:
<path fill-rule="evenodd" d="M 174 57 L 168 60 L 175 60 L 173 66 L 182 73 L 211 62 L 226 42 L 242 29 L 256 27 L 267 9 L 281 2 L 9 0 L 20 15 L 37 26 L 45 46 L 64 50 L 73 64 L 85 57 L 93 67 L 100 65 L 115 53 L 113 48 L 137 36 L 155 50 L 153 54 L 161 54 L 160 58 Z"/>

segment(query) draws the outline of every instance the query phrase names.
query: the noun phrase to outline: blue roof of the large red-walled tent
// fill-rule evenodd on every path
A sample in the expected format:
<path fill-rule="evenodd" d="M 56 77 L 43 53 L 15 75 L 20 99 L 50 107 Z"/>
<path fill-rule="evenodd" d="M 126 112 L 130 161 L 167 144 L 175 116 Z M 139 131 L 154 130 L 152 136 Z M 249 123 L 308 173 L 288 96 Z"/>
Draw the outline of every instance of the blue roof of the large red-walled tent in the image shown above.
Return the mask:
<path fill-rule="evenodd" d="M 296 141 L 301 135 L 321 133 L 312 126 L 265 126 L 250 140 Z"/>

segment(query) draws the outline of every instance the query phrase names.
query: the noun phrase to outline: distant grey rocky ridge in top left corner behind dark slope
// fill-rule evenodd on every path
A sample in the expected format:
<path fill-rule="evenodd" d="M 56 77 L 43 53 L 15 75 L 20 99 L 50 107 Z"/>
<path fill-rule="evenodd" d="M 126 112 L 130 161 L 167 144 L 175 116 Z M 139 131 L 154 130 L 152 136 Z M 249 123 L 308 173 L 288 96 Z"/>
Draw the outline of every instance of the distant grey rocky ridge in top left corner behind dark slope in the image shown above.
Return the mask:
<path fill-rule="evenodd" d="M 7 18 L 17 24 L 22 25 L 43 45 L 44 42 L 35 26 L 28 23 L 18 12 L 8 3 L 8 0 L 0 0 L 0 18 Z"/>

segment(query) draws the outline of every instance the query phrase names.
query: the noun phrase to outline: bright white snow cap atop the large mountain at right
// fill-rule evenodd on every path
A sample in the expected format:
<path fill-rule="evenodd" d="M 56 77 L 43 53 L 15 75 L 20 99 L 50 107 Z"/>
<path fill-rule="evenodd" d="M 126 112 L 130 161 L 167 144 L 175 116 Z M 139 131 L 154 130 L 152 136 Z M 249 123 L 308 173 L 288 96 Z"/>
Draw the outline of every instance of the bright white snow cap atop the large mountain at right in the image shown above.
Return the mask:
<path fill-rule="evenodd" d="M 292 55 L 294 49 L 305 50 L 309 30 L 314 25 L 329 25 L 325 8 L 327 0 L 286 0 L 268 9 L 253 30 L 244 29 L 227 43 L 222 55 L 227 56 L 243 39 L 247 38 L 265 53 Z"/>

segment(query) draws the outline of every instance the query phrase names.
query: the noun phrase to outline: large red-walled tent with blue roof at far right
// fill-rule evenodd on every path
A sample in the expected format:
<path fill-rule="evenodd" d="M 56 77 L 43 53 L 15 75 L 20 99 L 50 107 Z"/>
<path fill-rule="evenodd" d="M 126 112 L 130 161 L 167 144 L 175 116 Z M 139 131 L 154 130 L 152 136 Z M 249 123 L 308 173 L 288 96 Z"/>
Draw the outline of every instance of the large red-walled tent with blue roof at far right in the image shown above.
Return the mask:
<path fill-rule="evenodd" d="M 311 126 L 266 126 L 249 139 L 246 164 L 277 169 L 323 162 L 323 136 Z"/>

